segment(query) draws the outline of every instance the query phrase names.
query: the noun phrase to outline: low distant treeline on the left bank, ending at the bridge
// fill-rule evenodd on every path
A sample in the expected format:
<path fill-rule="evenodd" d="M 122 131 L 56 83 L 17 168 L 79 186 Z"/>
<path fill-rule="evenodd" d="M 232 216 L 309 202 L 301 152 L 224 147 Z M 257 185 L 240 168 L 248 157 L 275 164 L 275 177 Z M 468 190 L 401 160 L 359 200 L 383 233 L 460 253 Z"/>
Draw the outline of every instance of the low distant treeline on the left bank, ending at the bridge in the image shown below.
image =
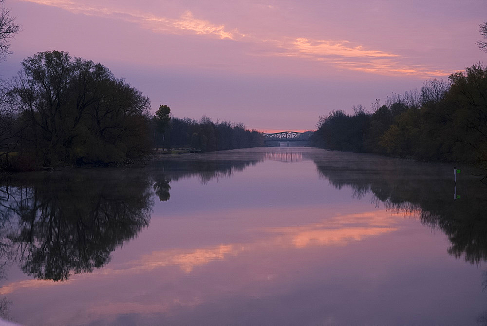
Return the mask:
<path fill-rule="evenodd" d="M 163 106 L 161 106 L 163 107 Z M 197 121 L 190 118 L 171 117 L 164 132 L 154 135 L 159 148 L 188 149 L 202 152 L 231 150 L 237 148 L 259 147 L 264 145 L 263 133 L 248 130 L 243 123 L 213 122 L 203 116 Z"/>

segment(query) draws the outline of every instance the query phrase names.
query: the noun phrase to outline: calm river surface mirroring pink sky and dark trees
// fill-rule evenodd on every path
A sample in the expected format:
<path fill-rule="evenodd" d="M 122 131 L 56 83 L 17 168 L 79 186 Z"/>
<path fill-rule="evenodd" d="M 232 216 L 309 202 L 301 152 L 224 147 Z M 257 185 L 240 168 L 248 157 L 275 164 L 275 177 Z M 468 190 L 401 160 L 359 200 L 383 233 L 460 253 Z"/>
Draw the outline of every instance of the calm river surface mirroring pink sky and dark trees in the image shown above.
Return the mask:
<path fill-rule="evenodd" d="M 0 315 L 27 325 L 477 325 L 487 188 L 308 148 L 0 187 Z"/>

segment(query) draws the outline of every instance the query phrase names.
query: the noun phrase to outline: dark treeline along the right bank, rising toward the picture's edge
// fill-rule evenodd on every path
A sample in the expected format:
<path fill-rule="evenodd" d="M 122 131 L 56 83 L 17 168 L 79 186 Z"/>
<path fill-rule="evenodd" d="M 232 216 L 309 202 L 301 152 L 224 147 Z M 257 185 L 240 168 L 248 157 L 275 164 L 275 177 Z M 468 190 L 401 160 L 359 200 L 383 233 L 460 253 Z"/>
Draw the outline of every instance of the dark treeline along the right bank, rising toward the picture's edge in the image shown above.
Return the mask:
<path fill-rule="evenodd" d="M 420 91 L 388 98 L 373 113 L 362 106 L 321 116 L 315 146 L 421 160 L 487 165 L 487 67 L 473 65 L 429 80 Z"/>

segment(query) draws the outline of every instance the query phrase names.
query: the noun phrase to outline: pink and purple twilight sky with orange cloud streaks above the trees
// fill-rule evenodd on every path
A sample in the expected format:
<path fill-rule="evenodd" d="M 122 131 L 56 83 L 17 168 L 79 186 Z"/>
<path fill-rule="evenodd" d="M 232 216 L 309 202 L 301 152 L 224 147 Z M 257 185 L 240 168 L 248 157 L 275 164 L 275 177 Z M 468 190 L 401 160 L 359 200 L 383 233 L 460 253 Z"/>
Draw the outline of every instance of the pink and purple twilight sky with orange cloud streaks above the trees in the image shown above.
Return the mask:
<path fill-rule="evenodd" d="M 486 0 L 6 0 L 21 32 L 0 74 L 60 50 L 109 67 L 154 112 L 315 129 L 486 62 Z"/>

